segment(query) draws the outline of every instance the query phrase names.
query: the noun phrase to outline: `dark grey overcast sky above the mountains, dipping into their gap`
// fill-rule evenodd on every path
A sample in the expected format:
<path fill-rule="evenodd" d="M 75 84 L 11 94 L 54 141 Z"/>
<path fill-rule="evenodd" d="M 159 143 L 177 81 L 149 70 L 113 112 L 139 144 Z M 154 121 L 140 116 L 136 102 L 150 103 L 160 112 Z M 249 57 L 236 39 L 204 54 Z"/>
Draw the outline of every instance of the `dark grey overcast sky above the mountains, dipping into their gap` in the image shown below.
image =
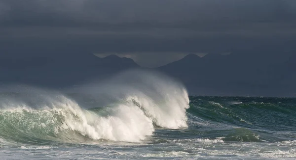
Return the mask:
<path fill-rule="evenodd" d="M 296 0 L 0 0 L 2 55 L 116 53 L 157 67 L 293 44 Z"/>

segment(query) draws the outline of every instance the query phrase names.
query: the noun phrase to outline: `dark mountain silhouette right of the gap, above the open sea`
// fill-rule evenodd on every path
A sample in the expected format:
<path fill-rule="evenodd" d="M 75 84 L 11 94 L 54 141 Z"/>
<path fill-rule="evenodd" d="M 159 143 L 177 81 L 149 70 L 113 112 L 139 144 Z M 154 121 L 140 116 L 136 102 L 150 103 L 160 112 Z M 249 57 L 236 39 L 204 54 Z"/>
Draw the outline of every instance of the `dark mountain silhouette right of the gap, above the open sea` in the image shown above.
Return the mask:
<path fill-rule="evenodd" d="M 296 96 L 296 56 L 188 54 L 157 68 L 197 95 Z"/>

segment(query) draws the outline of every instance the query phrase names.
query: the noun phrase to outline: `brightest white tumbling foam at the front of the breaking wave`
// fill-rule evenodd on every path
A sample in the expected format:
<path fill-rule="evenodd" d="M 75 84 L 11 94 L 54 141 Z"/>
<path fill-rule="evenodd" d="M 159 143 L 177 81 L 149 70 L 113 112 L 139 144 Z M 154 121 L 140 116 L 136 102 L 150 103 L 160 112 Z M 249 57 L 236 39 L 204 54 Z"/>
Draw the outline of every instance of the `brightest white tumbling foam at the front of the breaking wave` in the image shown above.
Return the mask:
<path fill-rule="evenodd" d="M 154 131 L 152 120 L 136 106 L 118 105 L 111 108 L 108 116 L 99 116 L 78 107 L 70 113 L 65 115 L 64 129 L 92 139 L 138 142 Z"/>

